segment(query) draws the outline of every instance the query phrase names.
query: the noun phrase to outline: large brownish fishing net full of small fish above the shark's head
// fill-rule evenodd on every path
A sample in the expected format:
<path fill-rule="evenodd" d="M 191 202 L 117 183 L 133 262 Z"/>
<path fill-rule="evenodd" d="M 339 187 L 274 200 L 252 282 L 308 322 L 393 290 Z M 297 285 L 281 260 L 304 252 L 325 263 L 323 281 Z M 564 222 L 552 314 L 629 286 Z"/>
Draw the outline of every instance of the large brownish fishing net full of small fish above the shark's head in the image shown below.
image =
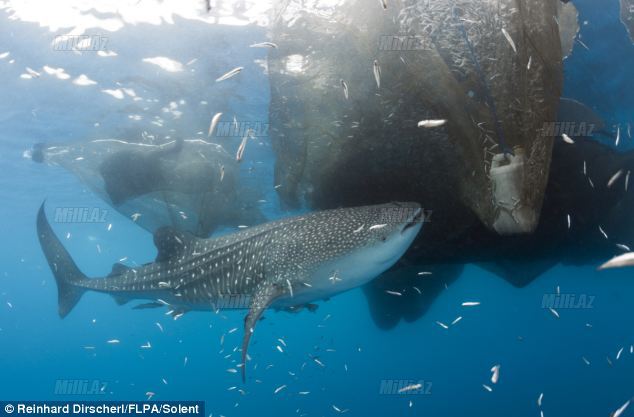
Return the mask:
<path fill-rule="evenodd" d="M 283 202 L 411 199 L 451 222 L 466 210 L 501 234 L 532 231 L 553 140 L 540 132 L 562 87 L 557 3 L 280 3 L 269 74 Z"/>

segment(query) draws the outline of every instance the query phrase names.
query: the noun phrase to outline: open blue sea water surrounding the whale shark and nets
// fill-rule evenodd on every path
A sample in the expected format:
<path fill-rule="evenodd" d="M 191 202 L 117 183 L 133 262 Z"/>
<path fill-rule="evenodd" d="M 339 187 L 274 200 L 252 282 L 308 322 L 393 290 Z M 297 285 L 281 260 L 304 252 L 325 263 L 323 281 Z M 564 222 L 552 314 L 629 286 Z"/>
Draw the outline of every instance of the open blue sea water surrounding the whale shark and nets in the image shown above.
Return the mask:
<path fill-rule="evenodd" d="M 631 123 L 634 46 L 618 21 L 618 4 L 613 0 L 576 4 L 581 21 L 588 21 L 581 34 L 590 50 L 576 45 L 566 60 L 564 95 L 591 104 L 608 125 Z M 185 19 L 171 25 L 129 25 L 109 33 L 109 46 L 119 56 L 108 61 L 53 51 L 53 32 L 9 19 L 0 10 L 0 53 L 11 52 L 0 60 L 0 400 L 141 400 L 151 391 L 154 399 L 204 400 L 207 414 L 214 416 L 329 416 L 339 414 L 335 405 L 348 409 L 349 416 L 520 417 L 539 415 L 537 398 L 542 392 L 545 416 L 607 416 L 634 395 L 634 355 L 629 353 L 634 344 L 631 270 L 599 273 L 595 266 L 557 266 L 518 289 L 467 266 L 423 318 L 387 332 L 372 323 L 360 290 L 322 302 L 314 313 L 267 312 L 252 339 L 246 384 L 239 373 L 227 372 L 240 360 L 234 347 L 241 342 L 242 312 L 193 312 L 174 321 L 162 310 L 132 310 L 117 306 L 108 296 L 88 293 L 61 320 L 55 283 L 35 233 L 35 215 L 43 200 L 49 208 L 108 210 L 110 231 L 102 223 L 54 225 L 58 236 L 70 233 L 64 244 L 89 276 L 107 274 L 124 257 L 130 265 L 152 260 L 152 237 L 68 172 L 34 164 L 22 152 L 35 142 L 138 135 L 147 129 L 147 123 L 134 127 L 127 119 L 131 111 L 127 106 L 134 102 L 100 92 L 116 88 L 115 80 L 125 77 L 160 82 L 162 88 L 138 91 L 160 99 L 160 106 L 185 99 L 179 107 L 183 116 L 166 117 L 165 123 L 184 136 L 206 131 L 209 117 L 220 107 L 232 109 L 242 120 L 266 120 L 268 83 L 262 68 L 253 63 L 264 59 L 266 51 L 245 47 L 262 41 L 263 30 L 223 28 L 226 32 L 214 29 L 213 35 L 209 30 L 208 25 Z M 142 40 L 148 33 L 153 42 Z M 187 47 L 182 39 L 187 39 Z M 199 58 L 196 70 L 210 74 L 198 81 L 166 77 L 162 70 L 139 63 L 142 57 L 159 55 L 180 62 Z M 9 59 L 16 62 L 9 64 Z M 208 82 L 241 64 L 245 64 L 244 76 L 231 84 L 231 91 Z M 45 74 L 19 78 L 26 66 L 39 70 L 43 65 L 63 67 L 73 78 L 85 73 L 99 85 L 77 87 Z M 201 107 L 201 100 L 209 105 Z M 95 122 L 100 123 L 98 128 Z M 229 139 L 226 146 L 233 152 L 238 143 L 237 138 Z M 245 169 L 261 169 L 263 184 L 270 188 L 270 146 L 263 140 L 248 152 L 251 162 Z M 266 192 L 272 201 L 267 214 L 286 215 L 274 193 Z M 557 286 L 562 293 L 593 296 L 592 308 L 561 309 L 556 319 L 542 308 L 542 297 Z M 482 304 L 465 309 L 461 307 L 465 300 Z M 435 323 L 449 323 L 457 316 L 463 316 L 462 321 L 447 330 Z M 106 343 L 115 338 L 121 343 Z M 276 349 L 278 338 L 287 345 L 283 353 Z M 148 341 L 152 348 L 141 349 Z M 616 360 L 621 347 L 624 353 Z M 309 355 L 318 356 L 325 367 Z M 495 364 L 501 370 L 499 382 L 493 385 L 490 368 Z M 107 389 L 96 396 L 56 395 L 55 383 L 60 379 L 105 381 Z M 381 394 L 381 381 L 390 379 L 424 380 L 431 389 L 424 395 Z M 493 391 L 482 384 L 492 385 Z M 287 388 L 274 394 L 281 385 Z M 243 389 L 245 395 L 237 389 L 228 391 L 231 386 Z M 310 394 L 298 395 L 300 391 Z M 623 414 L 631 415 L 633 409 Z"/>

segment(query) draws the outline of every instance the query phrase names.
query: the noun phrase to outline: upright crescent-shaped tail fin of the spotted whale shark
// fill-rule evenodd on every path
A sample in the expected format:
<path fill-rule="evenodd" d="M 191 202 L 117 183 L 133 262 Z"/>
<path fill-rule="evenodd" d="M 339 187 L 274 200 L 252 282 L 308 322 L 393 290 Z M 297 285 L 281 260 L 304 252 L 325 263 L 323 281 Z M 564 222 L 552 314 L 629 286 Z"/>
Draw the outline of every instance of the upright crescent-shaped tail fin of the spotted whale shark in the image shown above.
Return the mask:
<path fill-rule="evenodd" d="M 44 213 L 44 203 L 37 213 L 37 236 L 48 265 L 57 282 L 59 316 L 66 317 L 79 301 L 84 289 L 77 286 L 86 276 L 77 268 L 68 251 L 59 241 Z"/>

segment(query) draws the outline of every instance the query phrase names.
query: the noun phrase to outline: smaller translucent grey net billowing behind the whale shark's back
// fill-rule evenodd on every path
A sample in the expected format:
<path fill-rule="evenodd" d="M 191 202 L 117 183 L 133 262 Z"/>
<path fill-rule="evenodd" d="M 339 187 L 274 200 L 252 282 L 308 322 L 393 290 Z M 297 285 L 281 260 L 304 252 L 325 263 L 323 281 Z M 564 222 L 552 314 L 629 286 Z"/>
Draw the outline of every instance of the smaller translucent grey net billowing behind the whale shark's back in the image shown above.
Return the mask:
<path fill-rule="evenodd" d="M 259 193 L 243 184 L 238 163 L 215 143 L 97 139 L 38 144 L 28 154 L 70 171 L 150 232 L 169 225 L 207 237 L 221 226 L 265 221 L 256 203 Z"/>

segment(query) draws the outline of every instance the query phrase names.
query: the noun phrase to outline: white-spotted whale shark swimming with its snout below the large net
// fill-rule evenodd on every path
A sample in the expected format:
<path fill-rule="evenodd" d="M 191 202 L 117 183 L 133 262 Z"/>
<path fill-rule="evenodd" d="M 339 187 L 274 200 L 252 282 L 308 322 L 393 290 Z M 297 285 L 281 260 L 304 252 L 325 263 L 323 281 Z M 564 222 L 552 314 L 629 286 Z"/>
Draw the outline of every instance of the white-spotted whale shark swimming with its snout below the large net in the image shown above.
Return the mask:
<path fill-rule="evenodd" d="M 296 308 L 366 284 L 394 265 L 423 224 L 418 203 L 390 203 L 312 212 L 209 239 L 164 227 L 154 234 L 154 262 L 115 264 L 107 277 L 88 278 L 51 228 L 44 203 L 37 234 L 58 289 L 59 315 L 82 294 L 111 294 L 118 303 L 156 300 L 172 313 L 213 310 L 241 297 L 242 376 L 249 340 L 269 308 Z"/>

